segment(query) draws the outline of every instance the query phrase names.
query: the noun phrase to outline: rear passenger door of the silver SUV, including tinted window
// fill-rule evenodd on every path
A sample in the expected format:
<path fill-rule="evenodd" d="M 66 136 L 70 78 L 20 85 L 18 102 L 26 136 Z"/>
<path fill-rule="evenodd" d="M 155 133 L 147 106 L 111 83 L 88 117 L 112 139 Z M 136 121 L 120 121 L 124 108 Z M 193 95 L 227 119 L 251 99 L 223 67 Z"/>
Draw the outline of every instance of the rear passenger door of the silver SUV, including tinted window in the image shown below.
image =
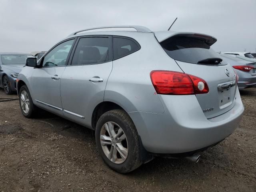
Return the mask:
<path fill-rule="evenodd" d="M 90 126 L 112 70 L 112 36 L 83 36 L 75 47 L 61 79 L 62 107 L 66 118 Z"/>

